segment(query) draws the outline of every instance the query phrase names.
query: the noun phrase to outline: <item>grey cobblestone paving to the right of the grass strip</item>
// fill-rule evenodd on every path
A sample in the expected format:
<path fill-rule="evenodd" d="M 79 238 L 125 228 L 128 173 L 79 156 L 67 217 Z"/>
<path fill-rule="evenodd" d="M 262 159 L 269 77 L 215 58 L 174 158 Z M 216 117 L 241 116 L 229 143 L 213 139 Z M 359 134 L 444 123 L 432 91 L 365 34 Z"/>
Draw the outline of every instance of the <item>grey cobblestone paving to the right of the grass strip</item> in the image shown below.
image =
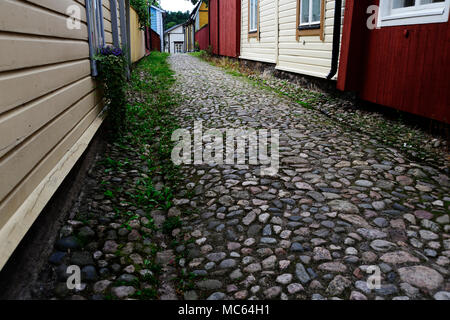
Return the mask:
<path fill-rule="evenodd" d="M 185 299 L 449 299 L 449 179 L 316 111 L 174 55 L 182 128 L 280 130 L 280 170 L 186 165 Z M 204 129 L 205 130 L 205 129 Z M 189 212 L 186 215 L 184 213 Z M 370 289 L 370 266 L 381 287 Z"/>

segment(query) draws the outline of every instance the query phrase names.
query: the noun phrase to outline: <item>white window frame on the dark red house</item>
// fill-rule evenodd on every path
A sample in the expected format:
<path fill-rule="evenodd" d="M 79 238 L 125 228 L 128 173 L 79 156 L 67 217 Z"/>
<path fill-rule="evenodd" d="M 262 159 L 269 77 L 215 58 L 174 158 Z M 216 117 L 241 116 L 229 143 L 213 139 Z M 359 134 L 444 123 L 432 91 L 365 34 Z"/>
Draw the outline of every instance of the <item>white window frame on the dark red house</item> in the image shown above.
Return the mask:
<path fill-rule="evenodd" d="M 420 4 L 393 9 L 393 0 L 380 0 L 378 27 L 403 26 L 413 24 L 443 23 L 448 21 L 450 0 Z"/>

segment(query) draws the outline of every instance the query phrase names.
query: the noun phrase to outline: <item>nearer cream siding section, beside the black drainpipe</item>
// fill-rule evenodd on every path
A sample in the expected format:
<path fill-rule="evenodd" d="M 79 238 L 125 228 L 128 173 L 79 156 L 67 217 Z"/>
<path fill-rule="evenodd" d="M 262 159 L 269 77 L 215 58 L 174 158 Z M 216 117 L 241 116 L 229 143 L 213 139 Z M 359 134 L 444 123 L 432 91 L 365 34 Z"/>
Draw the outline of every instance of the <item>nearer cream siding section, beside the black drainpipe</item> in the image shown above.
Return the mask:
<path fill-rule="evenodd" d="M 331 68 L 334 0 L 325 0 L 324 41 L 319 36 L 296 39 L 297 0 L 279 0 L 279 57 L 277 69 L 325 78 Z"/>

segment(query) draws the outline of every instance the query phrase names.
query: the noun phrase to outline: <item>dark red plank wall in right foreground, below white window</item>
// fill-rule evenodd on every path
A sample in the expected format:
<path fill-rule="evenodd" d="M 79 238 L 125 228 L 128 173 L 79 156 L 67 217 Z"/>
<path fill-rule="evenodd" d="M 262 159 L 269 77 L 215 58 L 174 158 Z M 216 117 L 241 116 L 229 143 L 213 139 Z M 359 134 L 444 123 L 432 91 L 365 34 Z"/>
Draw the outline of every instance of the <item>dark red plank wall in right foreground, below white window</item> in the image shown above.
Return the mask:
<path fill-rule="evenodd" d="M 378 0 L 356 2 L 348 0 L 347 5 L 365 11 L 368 5 L 378 4 Z M 338 88 L 355 90 L 370 102 L 450 123 L 449 23 L 369 30 L 367 18 L 353 12 L 352 20 L 346 12 L 344 24 L 351 26 L 344 26 Z"/>

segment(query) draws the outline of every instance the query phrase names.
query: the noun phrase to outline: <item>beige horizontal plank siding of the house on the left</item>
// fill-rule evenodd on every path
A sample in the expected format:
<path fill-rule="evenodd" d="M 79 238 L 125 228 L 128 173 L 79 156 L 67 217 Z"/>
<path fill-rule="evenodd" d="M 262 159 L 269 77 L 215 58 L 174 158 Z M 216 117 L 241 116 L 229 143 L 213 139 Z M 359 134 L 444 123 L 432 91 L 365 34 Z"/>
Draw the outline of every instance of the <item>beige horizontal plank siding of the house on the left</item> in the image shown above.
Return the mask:
<path fill-rule="evenodd" d="M 66 27 L 69 5 L 80 6 L 80 30 Z M 103 103 L 90 75 L 84 0 L 0 1 L 0 48 L 1 269 L 92 138 Z"/>

